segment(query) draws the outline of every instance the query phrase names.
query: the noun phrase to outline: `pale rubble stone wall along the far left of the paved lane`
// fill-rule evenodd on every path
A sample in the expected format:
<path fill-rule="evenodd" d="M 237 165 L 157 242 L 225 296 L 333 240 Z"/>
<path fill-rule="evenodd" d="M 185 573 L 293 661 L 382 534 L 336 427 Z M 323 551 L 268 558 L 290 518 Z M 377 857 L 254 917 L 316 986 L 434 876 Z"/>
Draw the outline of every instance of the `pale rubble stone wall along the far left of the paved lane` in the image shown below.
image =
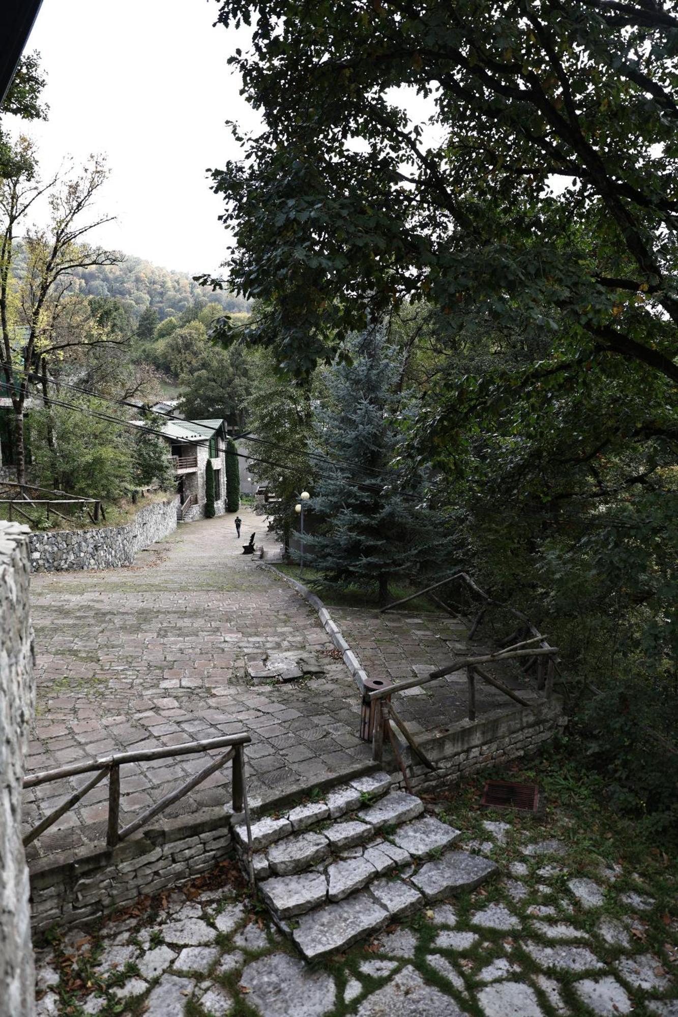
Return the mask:
<path fill-rule="evenodd" d="M 137 551 L 176 530 L 178 496 L 145 505 L 131 523 L 93 530 L 55 530 L 31 534 L 34 572 L 119 569 Z"/>

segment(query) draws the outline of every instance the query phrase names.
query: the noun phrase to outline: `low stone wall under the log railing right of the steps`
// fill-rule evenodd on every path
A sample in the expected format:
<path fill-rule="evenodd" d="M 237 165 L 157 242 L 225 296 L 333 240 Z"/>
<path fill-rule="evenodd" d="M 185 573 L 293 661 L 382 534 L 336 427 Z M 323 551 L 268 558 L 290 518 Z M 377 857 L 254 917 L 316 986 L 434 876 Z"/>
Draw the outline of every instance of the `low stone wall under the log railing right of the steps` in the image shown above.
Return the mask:
<path fill-rule="evenodd" d="M 533 711 L 525 707 L 507 707 L 483 714 L 474 721 L 451 724 L 442 736 L 427 739 L 426 733 L 416 734 L 416 743 L 431 762 L 437 764 L 436 770 L 426 767 L 395 726 L 393 730 L 401 742 L 400 753 L 410 785 L 420 794 L 488 766 L 527 756 L 566 724 L 563 701 L 560 696 L 554 696 L 550 701 L 535 699 Z M 395 765 L 392 763 L 391 769 Z M 404 788 L 402 776 L 398 783 Z"/>

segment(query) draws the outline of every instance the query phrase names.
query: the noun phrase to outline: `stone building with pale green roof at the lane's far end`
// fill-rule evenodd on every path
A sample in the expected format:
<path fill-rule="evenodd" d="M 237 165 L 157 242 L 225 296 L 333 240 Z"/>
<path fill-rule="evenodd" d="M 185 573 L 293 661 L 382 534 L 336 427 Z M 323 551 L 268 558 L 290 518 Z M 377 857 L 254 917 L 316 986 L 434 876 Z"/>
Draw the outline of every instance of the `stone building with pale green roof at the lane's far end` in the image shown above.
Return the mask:
<path fill-rule="evenodd" d="M 133 421 L 143 427 L 144 421 Z M 157 425 L 170 445 L 179 495 L 178 518 L 184 523 L 205 517 L 206 468 L 214 468 L 214 503 L 217 516 L 226 511 L 226 421 L 168 420 Z"/>

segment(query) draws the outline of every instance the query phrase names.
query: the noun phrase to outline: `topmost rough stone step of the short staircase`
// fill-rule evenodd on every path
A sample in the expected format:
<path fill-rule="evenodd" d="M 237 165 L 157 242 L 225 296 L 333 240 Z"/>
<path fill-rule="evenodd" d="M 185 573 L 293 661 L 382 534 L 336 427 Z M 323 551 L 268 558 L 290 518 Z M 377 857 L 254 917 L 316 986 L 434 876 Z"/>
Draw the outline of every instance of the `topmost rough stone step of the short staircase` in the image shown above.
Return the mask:
<path fill-rule="evenodd" d="M 261 851 L 288 834 L 308 830 L 318 823 L 329 819 L 338 819 L 347 813 L 355 812 L 365 804 L 365 796 L 377 800 L 391 788 L 391 778 L 387 773 L 371 773 L 357 777 L 348 784 L 341 784 L 328 791 L 324 801 L 307 802 L 282 813 L 274 818 L 265 816 L 251 824 L 252 849 Z M 244 823 L 233 826 L 236 845 L 247 847 L 247 828 Z"/>

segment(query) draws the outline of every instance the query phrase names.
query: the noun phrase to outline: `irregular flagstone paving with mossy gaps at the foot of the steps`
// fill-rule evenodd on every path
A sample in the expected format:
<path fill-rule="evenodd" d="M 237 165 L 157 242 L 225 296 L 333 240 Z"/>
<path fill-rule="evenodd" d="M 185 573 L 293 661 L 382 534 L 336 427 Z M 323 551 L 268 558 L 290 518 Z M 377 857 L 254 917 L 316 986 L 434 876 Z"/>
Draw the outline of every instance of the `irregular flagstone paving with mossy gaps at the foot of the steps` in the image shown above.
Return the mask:
<path fill-rule="evenodd" d="M 504 818 L 459 816 L 460 844 L 498 863 L 493 882 L 322 965 L 228 868 L 221 885 L 203 878 L 99 932 L 71 930 L 38 956 L 38 1017 L 676 1017 L 669 859 L 637 871 L 592 851 L 569 816 L 546 831 Z"/>

